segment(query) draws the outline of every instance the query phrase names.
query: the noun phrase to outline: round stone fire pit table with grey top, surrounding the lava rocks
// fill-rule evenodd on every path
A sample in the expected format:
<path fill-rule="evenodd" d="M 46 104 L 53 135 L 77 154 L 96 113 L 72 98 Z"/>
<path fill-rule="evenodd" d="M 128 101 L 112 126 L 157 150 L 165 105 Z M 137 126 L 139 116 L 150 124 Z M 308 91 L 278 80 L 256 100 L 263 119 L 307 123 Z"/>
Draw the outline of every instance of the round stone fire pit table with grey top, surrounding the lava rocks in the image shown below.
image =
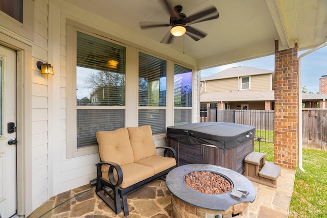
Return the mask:
<path fill-rule="evenodd" d="M 221 194 L 208 194 L 193 190 L 185 183 L 192 172 L 218 174 L 232 185 Z M 187 164 L 174 168 L 166 177 L 172 193 L 172 217 L 249 217 L 248 203 L 253 202 L 256 190 L 243 175 L 231 169 L 211 164 Z"/>

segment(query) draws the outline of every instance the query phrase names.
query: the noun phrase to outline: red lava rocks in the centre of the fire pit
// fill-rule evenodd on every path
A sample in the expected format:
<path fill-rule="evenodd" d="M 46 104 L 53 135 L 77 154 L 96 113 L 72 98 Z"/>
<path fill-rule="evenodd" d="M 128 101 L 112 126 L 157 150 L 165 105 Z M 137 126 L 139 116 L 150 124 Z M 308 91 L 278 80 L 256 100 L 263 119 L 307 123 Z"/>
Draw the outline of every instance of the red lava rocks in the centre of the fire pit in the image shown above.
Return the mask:
<path fill-rule="evenodd" d="M 209 171 L 195 171 L 185 176 L 185 184 L 193 190 L 218 195 L 233 187 L 224 177 Z"/>

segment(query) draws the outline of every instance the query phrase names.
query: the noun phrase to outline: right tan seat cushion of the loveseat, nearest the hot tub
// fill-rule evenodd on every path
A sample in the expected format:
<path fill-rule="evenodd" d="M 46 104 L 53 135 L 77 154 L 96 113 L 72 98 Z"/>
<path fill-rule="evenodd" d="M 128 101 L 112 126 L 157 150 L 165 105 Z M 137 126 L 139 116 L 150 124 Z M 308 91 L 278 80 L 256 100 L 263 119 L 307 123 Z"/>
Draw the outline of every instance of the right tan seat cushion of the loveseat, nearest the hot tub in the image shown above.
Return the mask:
<path fill-rule="evenodd" d="M 176 165 L 176 160 L 173 157 L 162 157 L 153 155 L 136 161 L 136 163 L 151 166 L 154 168 L 154 174 L 165 171 L 166 169 Z"/>

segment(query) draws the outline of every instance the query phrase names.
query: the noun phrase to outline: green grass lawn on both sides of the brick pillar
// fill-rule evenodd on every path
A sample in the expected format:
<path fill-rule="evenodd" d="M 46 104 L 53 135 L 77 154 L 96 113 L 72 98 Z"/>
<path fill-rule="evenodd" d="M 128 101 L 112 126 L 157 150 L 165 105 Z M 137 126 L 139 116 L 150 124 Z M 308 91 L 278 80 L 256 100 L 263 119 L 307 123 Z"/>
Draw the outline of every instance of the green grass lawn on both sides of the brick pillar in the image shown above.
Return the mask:
<path fill-rule="evenodd" d="M 259 142 L 254 141 L 259 152 Z M 273 161 L 273 143 L 260 142 L 266 161 Z M 297 166 L 289 217 L 327 217 L 327 152 L 303 149 L 303 173 Z"/>

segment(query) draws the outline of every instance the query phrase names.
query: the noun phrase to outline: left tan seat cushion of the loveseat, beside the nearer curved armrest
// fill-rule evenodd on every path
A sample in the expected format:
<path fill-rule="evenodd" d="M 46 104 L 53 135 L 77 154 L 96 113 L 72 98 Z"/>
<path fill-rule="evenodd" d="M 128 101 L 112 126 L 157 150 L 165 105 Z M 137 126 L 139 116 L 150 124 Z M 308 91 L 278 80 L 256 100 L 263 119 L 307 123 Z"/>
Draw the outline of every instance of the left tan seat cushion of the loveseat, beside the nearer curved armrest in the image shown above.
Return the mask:
<path fill-rule="evenodd" d="M 121 188 L 127 188 L 128 186 L 154 176 L 154 169 L 152 167 L 138 163 L 122 165 L 121 168 L 123 171 L 123 182 L 120 185 Z M 115 171 L 113 175 L 117 180 L 117 173 Z M 109 181 L 108 172 L 102 172 L 102 177 Z"/>

